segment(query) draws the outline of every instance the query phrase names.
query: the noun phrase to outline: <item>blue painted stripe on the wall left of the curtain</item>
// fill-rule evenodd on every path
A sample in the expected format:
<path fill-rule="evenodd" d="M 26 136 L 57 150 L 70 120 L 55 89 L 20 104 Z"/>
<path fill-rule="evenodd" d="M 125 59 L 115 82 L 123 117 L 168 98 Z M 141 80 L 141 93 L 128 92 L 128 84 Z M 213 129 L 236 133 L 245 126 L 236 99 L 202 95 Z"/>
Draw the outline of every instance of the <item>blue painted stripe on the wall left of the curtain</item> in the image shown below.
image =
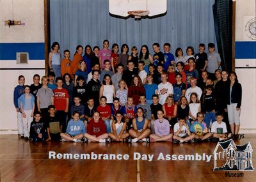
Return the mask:
<path fill-rule="evenodd" d="M 44 60 L 44 42 L 0 43 L 0 60 L 16 60 L 16 52 L 28 52 L 30 60 Z"/>

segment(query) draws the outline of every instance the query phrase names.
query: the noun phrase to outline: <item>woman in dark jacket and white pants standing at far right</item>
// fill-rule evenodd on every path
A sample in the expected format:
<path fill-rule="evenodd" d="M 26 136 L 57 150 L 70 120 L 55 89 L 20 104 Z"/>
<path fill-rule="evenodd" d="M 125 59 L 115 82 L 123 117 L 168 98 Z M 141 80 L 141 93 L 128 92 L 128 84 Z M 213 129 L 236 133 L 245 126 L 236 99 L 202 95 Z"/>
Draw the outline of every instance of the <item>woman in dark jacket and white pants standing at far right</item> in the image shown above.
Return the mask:
<path fill-rule="evenodd" d="M 240 111 L 242 101 L 242 86 L 237 80 L 236 72 L 229 73 L 230 89 L 227 95 L 228 121 L 234 138 L 237 138 L 240 126 Z"/>

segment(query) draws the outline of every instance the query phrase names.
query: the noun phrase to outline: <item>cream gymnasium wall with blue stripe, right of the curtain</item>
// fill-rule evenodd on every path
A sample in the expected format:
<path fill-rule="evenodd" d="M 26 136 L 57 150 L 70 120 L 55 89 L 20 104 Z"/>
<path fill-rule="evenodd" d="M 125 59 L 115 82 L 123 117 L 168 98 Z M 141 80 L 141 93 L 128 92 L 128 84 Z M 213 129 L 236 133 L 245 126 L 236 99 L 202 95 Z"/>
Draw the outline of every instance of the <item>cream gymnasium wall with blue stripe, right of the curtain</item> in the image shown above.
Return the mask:
<path fill-rule="evenodd" d="M 255 0 L 236 1 L 236 73 L 243 89 L 240 133 L 256 133 L 256 41 L 246 32 L 255 7 Z"/>

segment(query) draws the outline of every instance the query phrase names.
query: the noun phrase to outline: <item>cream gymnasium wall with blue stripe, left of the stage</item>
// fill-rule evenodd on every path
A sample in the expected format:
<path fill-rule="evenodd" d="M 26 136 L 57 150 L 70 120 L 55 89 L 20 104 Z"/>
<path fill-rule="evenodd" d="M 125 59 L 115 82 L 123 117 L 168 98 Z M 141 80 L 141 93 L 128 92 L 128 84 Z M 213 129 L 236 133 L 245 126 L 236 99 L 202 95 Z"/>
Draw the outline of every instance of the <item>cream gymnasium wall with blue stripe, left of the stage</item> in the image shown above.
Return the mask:
<path fill-rule="evenodd" d="M 19 20 L 20 26 L 4 26 L 5 20 Z M 16 52 L 28 52 L 28 64 L 16 63 Z M 0 1 L 0 134 L 17 133 L 13 89 L 19 75 L 25 84 L 33 75 L 44 75 L 44 0 Z"/>

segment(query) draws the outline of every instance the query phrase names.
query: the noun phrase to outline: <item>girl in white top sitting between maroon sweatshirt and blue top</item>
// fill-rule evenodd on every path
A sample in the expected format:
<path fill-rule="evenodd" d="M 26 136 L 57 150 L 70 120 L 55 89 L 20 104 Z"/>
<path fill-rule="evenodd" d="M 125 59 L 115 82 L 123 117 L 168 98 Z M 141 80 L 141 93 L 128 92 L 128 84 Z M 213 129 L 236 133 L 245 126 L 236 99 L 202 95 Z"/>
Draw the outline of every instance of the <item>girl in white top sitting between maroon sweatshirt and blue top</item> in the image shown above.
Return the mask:
<path fill-rule="evenodd" d="M 126 132 L 126 122 L 124 121 L 124 117 L 122 113 L 118 110 L 114 117 L 114 122 L 112 122 L 112 130 L 113 133 L 108 133 L 111 139 L 116 142 L 123 142 L 124 139 L 129 137 L 129 133 Z"/>

